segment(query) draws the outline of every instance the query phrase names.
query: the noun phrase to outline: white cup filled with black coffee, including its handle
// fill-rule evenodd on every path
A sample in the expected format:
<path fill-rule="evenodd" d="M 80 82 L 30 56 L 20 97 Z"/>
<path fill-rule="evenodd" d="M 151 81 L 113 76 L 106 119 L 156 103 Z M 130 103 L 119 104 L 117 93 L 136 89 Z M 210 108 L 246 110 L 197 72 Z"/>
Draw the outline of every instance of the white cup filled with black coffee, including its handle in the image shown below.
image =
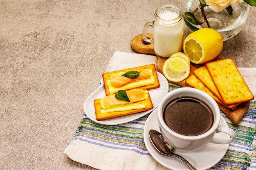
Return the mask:
<path fill-rule="evenodd" d="M 157 109 L 160 131 L 175 149 L 193 152 L 208 143 L 230 144 L 236 134 L 220 126 L 220 108 L 207 93 L 191 87 L 177 88 L 167 93 Z M 213 137 L 224 132 L 230 138 Z"/>

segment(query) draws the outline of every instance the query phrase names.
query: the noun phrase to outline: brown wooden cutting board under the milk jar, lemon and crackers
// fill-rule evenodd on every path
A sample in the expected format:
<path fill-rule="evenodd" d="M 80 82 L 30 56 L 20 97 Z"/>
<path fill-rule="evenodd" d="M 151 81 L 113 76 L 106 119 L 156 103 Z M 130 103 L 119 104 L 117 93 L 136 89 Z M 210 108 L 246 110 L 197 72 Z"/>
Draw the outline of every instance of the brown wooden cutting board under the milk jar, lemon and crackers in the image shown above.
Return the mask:
<path fill-rule="evenodd" d="M 153 34 L 147 34 L 148 38 L 153 38 Z M 157 56 L 157 62 L 156 62 L 156 68 L 157 71 L 159 73 L 163 73 L 162 72 L 162 66 L 166 60 L 166 58 L 160 57 L 159 55 L 157 55 L 154 51 L 154 44 L 149 44 L 148 42 L 145 42 L 142 38 L 142 34 L 137 35 L 136 37 L 132 38 L 131 42 L 131 47 L 134 51 L 141 53 L 141 54 L 150 54 L 150 55 L 156 55 Z M 223 60 L 222 57 L 217 57 L 215 60 Z M 190 65 L 190 75 L 193 75 L 193 71 L 201 66 L 203 66 L 204 64 L 193 64 L 191 63 Z M 185 83 L 186 79 L 184 79 L 181 82 L 172 82 L 174 84 L 177 84 L 181 87 L 188 87 Z M 241 103 L 240 105 L 238 105 L 238 107 L 236 108 L 236 110 L 229 110 L 228 108 L 222 106 L 221 104 L 218 104 L 220 110 L 222 110 L 227 117 L 229 117 L 229 119 L 233 122 L 233 124 L 235 126 L 237 126 L 239 124 L 239 122 L 243 119 L 245 113 L 247 112 L 250 102 L 245 102 L 245 103 Z"/>

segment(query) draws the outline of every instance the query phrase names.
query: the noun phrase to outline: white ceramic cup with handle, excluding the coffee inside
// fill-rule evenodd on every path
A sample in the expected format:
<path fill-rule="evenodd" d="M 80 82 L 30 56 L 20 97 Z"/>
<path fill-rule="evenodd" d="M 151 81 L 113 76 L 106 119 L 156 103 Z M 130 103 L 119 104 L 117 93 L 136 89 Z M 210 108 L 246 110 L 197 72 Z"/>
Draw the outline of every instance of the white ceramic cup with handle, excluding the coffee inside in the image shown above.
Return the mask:
<path fill-rule="evenodd" d="M 169 102 L 180 97 L 191 97 L 200 99 L 209 106 L 209 108 L 213 112 L 214 121 L 213 125 L 207 132 L 204 132 L 202 135 L 197 136 L 185 136 L 174 132 L 166 125 L 163 118 L 164 108 Z M 218 107 L 218 104 L 215 102 L 215 100 L 207 93 L 196 88 L 182 87 L 167 93 L 158 105 L 157 117 L 160 131 L 164 139 L 166 139 L 166 141 L 168 141 L 168 143 L 171 144 L 173 148 L 182 150 L 184 152 L 193 152 L 195 150 L 199 150 L 206 146 L 209 142 L 214 144 L 230 144 L 234 141 L 236 137 L 234 130 L 226 126 L 219 125 L 221 117 L 220 108 Z M 228 134 L 230 138 L 218 139 L 213 137 L 215 133 L 219 132 L 224 132 Z"/>

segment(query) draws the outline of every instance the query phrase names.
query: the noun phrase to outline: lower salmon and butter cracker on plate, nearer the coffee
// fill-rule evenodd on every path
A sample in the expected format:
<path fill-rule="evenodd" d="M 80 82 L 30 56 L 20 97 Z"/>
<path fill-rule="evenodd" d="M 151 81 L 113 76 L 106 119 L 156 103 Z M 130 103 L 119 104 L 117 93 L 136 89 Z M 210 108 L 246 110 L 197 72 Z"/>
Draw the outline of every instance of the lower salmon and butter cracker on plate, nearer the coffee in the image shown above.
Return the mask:
<path fill-rule="evenodd" d="M 117 99 L 118 93 L 95 99 L 94 107 L 97 120 L 139 113 L 154 107 L 147 89 L 135 88 L 125 92 L 129 101 Z"/>

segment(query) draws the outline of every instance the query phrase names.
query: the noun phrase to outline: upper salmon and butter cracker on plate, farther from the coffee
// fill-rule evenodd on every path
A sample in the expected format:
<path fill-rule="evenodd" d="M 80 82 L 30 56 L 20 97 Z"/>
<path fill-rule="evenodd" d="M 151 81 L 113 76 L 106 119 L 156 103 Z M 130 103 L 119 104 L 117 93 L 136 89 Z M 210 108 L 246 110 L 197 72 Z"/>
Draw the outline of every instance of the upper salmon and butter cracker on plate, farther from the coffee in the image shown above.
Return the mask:
<path fill-rule="evenodd" d="M 136 74 L 138 77 L 132 77 Z M 142 89 L 160 87 L 155 64 L 103 73 L 102 77 L 106 95 L 115 94 L 119 90 L 125 91 L 138 87 Z"/>

